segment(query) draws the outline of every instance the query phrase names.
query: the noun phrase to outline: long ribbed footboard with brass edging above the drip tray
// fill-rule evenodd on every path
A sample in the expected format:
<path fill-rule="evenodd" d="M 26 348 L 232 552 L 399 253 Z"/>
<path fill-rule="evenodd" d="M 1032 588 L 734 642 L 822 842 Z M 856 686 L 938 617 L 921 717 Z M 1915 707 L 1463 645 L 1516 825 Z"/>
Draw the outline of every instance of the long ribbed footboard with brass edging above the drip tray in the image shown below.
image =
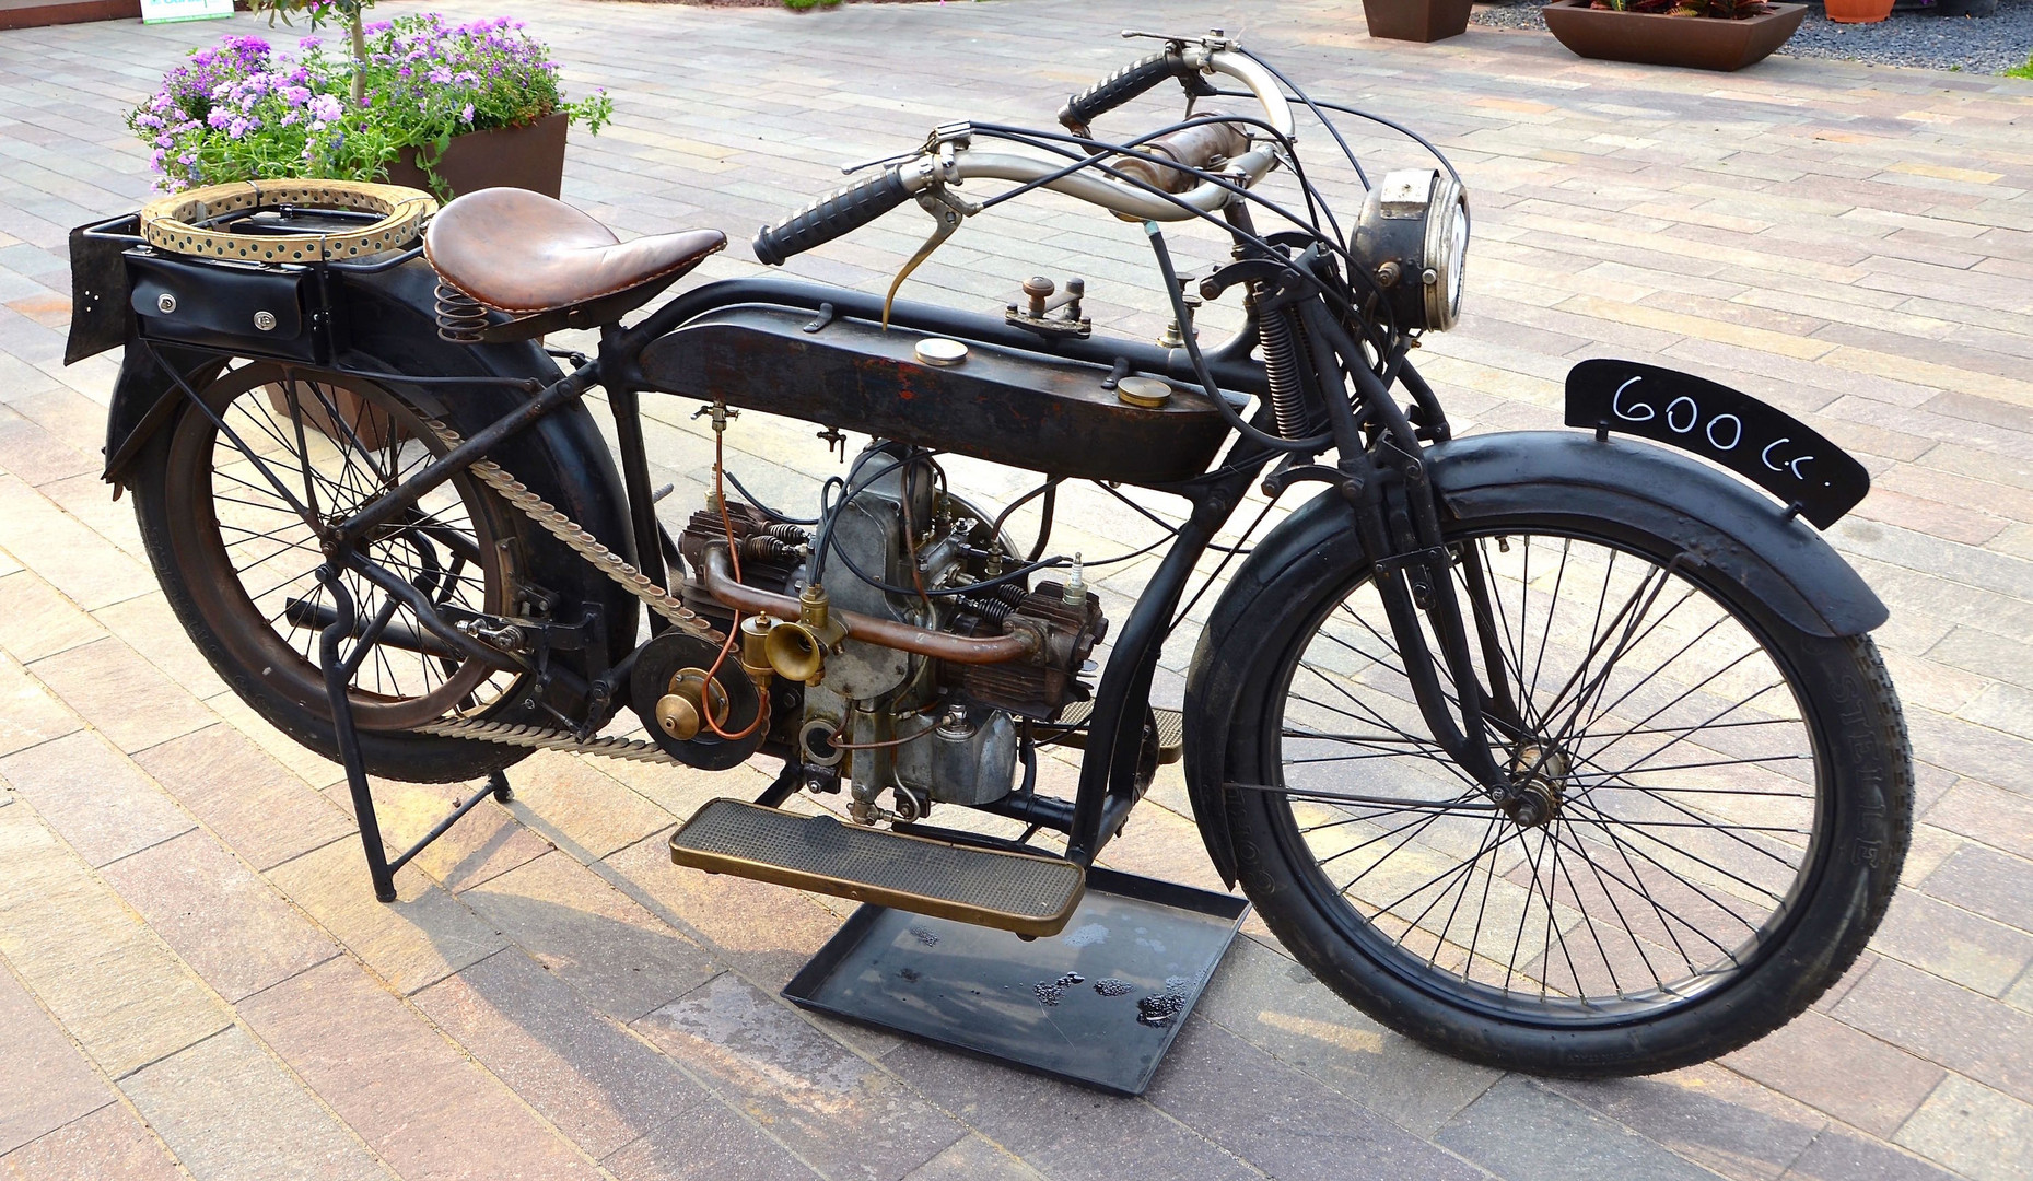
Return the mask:
<path fill-rule="evenodd" d="M 1059 858 L 956 846 L 740 799 L 714 799 L 693 813 L 671 833 L 671 860 L 1019 935 L 1057 935 L 1088 890 L 1086 868 Z"/>

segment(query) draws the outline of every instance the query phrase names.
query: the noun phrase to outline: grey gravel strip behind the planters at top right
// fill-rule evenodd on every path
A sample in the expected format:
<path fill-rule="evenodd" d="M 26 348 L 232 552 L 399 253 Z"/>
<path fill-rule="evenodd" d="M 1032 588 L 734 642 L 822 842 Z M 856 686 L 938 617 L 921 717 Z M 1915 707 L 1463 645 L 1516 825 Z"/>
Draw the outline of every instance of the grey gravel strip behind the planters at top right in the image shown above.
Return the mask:
<path fill-rule="evenodd" d="M 1545 30 L 1539 0 L 1476 4 L 1470 20 L 1492 28 Z M 2033 55 L 2033 0 L 1998 0 L 1998 14 L 1982 18 L 1942 18 L 1931 8 L 1897 10 L 1876 24 L 1836 24 L 1815 4 L 1779 53 L 2003 73 Z"/>

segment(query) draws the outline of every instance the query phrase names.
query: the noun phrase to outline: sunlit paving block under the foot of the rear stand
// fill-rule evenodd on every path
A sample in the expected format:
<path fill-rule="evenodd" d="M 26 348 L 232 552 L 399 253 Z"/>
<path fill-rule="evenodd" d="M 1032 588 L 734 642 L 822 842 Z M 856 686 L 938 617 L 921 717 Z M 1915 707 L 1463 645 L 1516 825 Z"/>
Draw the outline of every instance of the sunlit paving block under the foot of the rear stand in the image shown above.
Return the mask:
<path fill-rule="evenodd" d="M 276 866 L 268 880 L 405 996 L 508 943 L 411 868 L 394 878 L 396 900 L 376 903 L 358 840 L 337 840 Z"/>

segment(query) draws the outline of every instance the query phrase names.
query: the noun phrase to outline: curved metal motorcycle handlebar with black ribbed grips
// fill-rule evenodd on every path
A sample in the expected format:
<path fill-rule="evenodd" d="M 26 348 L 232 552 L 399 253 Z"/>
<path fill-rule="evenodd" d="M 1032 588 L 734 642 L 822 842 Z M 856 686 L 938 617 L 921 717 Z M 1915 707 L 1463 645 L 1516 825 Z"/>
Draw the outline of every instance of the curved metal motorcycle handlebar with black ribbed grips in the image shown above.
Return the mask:
<path fill-rule="evenodd" d="M 1086 110 L 1098 114 L 1098 110 L 1108 110 L 1128 102 L 1169 75 L 1173 69 L 1169 65 L 1169 53 L 1153 55 L 1116 71 L 1075 96 L 1075 100 L 1067 104 L 1067 110 L 1088 104 Z M 1153 77 L 1153 61 L 1165 61 L 1167 73 Z M 1277 132 L 1277 136 L 1291 140 L 1291 104 L 1285 100 L 1285 91 L 1279 85 L 1277 75 L 1262 65 L 1256 65 L 1242 53 L 1228 49 L 1187 45 L 1179 53 L 1179 69 L 1191 69 L 1195 73 L 1222 73 L 1240 81 L 1252 96 L 1256 96 L 1256 102 L 1262 104 L 1265 122 Z M 1094 102 L 1106 102 L 1106 106 L 1096 108 L 1092 106 Z M 1045 189 L 1100 205 L 1110 213 L 1132 222 L 1183 222 L 1197 213 L 1214 213 L 1222 209 L 1234 197 L 1230 185 L 1250 187 L 1277 163 L 1275 146 L 1271 142 L 1258 142 L 1256 146 L 1250 146 L 1250 150 L 1228 161 L 1224 169 L 1230 181 L 1228 185 L 1202 181 L 1185 193 L 1163 197 L 1159 193 L 1086 171 L 1055 177 L 1055 173 L 1065 169 L 1065 161 L 1045 161 L 1019 152 L 984 152 L 962 144 L 953 146 L 958 150 L 953 150 L 947 161 L 921 154 L 915 161 L 886 169 L 880 177 L 813 201 L 783 226 L 764 226 L 754 240 L 756 258 L 777 266 L 801 250 L 811 250 L 821 242 L 831 242 L 850 230 L 858 230 L 860 226 L 874 222 L 882 213 L 905 203 L 905 199 L 935 183 L 953 183 L 972 177 L 1019 183 L 1043 181 Z M 1181 163 L 1189 161 L 1181 159 Z M 1181 177 L 1179 171 L 1161 169 L 1159 185 L 1163 187 L 1165 179 L 1177 177 Z"/>

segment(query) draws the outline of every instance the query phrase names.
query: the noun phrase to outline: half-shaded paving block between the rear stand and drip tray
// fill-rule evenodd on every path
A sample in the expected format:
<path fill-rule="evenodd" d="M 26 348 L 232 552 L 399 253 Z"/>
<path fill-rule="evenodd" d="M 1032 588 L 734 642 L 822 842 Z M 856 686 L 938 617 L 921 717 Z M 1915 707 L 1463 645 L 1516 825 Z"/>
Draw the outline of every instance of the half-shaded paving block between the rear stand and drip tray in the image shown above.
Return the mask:
<path fill-rule="evenodd" d="M 661 1008 L 724 970 L 703 947 L 563 852 L 545 854 L 464 898 L 620 1022 Z"/>

